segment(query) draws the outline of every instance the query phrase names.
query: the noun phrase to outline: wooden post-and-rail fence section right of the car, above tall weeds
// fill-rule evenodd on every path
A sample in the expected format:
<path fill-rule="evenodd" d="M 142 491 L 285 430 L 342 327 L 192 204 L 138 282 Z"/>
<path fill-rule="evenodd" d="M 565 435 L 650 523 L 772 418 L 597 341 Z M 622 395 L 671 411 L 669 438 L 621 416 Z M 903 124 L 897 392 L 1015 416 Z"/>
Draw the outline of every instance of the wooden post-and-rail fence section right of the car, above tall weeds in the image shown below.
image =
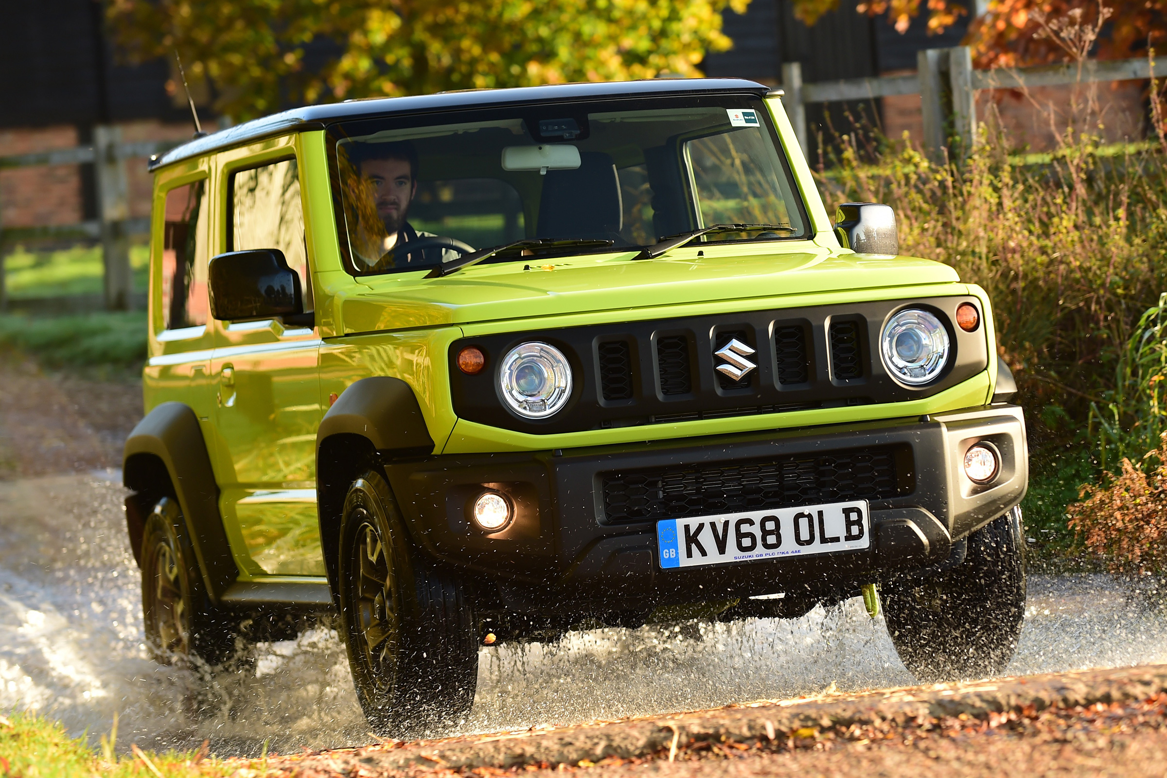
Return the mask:
<path fill-rule="evenodd" d="M 806 149 L 806 111 L 809 103 L 872 100 L 893 94 L 920 94 L 924 122 L 922 146 L 928 157 L 939 161 L 950 139 L 967 152 L 977 132 L 977 91 L 1061 86 L 1090 82 L 1114 82 L 1167 77 L 1167 61 L 1152 64 L 1148 59 L 1086 59 L 1077 64 L 1041 68 L 997 68 L 973 70 L 972 51 L 966 45 L 950 49 L 927 49 L 916 55 L 917 70 L 902 76 L 845 78 L 843 80 L 804 84 L 802 65 L 782 65 L 787 113 Z"/>

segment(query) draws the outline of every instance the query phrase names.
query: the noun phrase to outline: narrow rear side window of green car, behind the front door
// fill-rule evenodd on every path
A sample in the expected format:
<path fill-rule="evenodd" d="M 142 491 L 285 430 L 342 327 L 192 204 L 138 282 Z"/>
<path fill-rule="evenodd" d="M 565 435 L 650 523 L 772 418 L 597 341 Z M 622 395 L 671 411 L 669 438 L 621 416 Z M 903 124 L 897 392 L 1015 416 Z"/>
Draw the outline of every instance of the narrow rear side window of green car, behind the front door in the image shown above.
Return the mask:
<path fill-rule="evenodd" d="M 207 182 L 166 192 L 162 317 L 166 329 L 207 323 Z"/>

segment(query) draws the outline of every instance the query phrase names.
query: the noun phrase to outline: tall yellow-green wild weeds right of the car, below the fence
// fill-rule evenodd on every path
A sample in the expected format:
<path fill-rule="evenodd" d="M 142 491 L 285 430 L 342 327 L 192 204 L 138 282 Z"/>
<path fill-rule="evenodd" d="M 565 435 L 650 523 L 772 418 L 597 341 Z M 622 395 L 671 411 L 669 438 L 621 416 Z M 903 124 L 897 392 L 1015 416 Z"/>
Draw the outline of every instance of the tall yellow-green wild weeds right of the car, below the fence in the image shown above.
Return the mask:
<path fill-rule="evenodd" d="M 984 134 L 963 163 L 931 164 L 878 133 L 839 141 L 818 174 L 826 202 L 892 205 L 902 253 L 988 292 L 1026 409 L 1030 548 L 1064 561 L 1079 486 L 1106 477 L 1103 462 L 1141 460 L 1167 428 L 1163 303 L 1148 310 L 1167 289 L 1167 156 L 1067 133 L 1034 164 Z"/>

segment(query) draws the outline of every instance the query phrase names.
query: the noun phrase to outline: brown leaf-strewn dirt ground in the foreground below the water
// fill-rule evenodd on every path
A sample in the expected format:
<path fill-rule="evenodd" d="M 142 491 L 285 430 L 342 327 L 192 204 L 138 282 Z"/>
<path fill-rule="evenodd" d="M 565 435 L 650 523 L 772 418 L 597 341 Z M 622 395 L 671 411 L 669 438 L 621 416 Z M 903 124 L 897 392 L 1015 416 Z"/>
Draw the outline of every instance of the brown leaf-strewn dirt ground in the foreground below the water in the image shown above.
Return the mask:
<path fill-rule="evenodd" d="M 1153 665 L 387 742 L 273 758 L 266 768 L 300 778 L 565 769 L 606 776 L 1162 776 L 1165 723 L 1167 665 Z"/>

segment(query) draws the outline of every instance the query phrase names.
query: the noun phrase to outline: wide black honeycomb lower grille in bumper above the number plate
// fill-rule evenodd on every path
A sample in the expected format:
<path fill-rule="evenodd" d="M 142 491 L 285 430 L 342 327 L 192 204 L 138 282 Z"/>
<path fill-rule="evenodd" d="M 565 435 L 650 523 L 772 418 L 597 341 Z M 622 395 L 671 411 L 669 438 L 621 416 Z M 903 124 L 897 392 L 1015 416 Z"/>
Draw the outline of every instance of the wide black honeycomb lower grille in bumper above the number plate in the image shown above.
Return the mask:
<path fill-rule="evenodd" d="M 795 454 L 721 467 L 608 472 L 603 475 L 605 513 L 613 523 L 651 521 L 851 499 L 888 499 L 910 493 L 910 457 L 907 447 L 887 446 Z"/>

